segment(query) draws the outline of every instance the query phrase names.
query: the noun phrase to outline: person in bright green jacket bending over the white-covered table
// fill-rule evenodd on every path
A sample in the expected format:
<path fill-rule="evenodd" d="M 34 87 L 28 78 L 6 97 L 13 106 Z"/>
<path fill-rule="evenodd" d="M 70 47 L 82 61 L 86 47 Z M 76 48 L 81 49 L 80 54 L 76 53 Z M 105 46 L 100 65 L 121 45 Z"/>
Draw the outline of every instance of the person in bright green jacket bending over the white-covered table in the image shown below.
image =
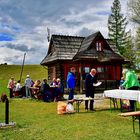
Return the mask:
<path fill-rule="evenodd" d="M 122 87 L 125 87 L 127 90 L 138 90 L 140 87 L 138 77 L 132 70 L 124 69 L 123 72 L 125 82 L 122 84 Z M 130 111 L 135 110 L 135 102 L 134 100 L 130 100 Z"/>

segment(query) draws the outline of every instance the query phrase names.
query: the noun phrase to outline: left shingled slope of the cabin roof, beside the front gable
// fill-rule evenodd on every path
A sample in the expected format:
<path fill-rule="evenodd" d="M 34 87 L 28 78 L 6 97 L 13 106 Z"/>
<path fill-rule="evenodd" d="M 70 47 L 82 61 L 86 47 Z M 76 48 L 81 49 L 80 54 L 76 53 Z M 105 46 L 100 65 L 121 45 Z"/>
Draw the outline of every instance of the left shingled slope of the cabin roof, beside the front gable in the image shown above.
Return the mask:
<path fill-rule="evenodd" d="M 72 60 L 78 52 L 84 37 L 52 35 L 47 56 L 41 65 L 56 60 Z"/>

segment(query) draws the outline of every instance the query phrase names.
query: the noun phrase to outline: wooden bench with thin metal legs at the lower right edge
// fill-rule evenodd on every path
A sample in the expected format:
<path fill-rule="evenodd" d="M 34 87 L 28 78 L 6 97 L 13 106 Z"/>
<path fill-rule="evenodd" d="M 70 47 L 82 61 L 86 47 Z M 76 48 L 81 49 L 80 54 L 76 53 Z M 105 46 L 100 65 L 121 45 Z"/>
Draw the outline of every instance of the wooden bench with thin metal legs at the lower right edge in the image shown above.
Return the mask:
<path fill-rule="evenodd" d="M 132 116 L 133 121 L 133 133 L 135 133 L 135 120 L 139 120 L 139 132 L 140 132 L 140 111 L 133 111 L 133 112 L 126 112 L 126 113 L 120 113 L 120 116 L 123 117 L 129 117 Z"/>

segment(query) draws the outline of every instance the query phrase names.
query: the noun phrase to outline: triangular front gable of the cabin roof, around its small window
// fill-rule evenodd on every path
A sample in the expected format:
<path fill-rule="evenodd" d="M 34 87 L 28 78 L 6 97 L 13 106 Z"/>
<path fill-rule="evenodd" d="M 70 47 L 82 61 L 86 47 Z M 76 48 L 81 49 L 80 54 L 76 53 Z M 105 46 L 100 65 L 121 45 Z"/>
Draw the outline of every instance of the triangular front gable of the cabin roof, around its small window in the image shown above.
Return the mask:
<path fill-rule="evenodd" d="M 96 48 L 96 42 L 103 43 L 103 50 L 98 51 Z M 102 36 L 100 32 L 96 32 L 84 39 L 81 44 L 81 48 L 77 52 L 77 54 L 73 58 L 74 60 L 93 60 L 96 59 L 99 62 L 112 61 L 112 60 L 120 60 L 123 58 L 115 53 L 110 47 L 109 43 Z"/>

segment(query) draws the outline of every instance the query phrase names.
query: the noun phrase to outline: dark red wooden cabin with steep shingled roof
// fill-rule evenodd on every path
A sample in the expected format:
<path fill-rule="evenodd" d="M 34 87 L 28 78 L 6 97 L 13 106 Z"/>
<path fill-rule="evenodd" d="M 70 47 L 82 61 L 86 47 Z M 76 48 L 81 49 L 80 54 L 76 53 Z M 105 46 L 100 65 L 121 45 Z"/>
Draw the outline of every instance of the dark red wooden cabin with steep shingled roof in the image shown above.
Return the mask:
<path fill-rule="evenodd" d="M 48 53 L 41 65 L 48 68 L 48 80 L 60 78 L 66 85 L 70 67 L 76 67 L 76 90 L 84 91 L 84 80 L 91 68 L 96 68 L 102 85 L 97 90 L 118 88 L 124 58 L 111 40 L 100 32 L 87 37 L 52 35 Z"/>

